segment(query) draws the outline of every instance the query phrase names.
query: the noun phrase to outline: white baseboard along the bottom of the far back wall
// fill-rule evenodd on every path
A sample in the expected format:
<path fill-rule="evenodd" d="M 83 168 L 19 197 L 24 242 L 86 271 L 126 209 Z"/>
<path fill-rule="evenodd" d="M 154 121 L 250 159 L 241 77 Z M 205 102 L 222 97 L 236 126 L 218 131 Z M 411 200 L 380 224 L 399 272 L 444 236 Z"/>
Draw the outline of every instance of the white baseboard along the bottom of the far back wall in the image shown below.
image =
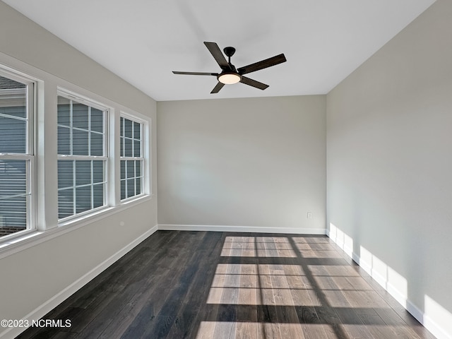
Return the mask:
<path fill-rule="evenodd" d="M 172 225 L 159 224 L 159 230 L 166 231 L 213 231 L 213 232 L 253 232 L 285 234 L 326 234 L 326 229 L 299 227 L 256 227 L 227 225 Z"/>

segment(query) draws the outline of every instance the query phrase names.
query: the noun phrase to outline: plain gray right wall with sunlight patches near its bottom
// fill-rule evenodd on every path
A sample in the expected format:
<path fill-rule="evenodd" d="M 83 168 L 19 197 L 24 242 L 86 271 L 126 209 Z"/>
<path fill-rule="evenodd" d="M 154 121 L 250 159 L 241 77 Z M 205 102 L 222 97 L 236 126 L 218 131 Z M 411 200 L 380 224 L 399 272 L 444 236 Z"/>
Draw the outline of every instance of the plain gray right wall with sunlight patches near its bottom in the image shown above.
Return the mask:
<path fill-rule="evenodd" d="M 451 19 L 436 1 L 328 93 L 327 215 L 338 242 L 452 336 Z"/>

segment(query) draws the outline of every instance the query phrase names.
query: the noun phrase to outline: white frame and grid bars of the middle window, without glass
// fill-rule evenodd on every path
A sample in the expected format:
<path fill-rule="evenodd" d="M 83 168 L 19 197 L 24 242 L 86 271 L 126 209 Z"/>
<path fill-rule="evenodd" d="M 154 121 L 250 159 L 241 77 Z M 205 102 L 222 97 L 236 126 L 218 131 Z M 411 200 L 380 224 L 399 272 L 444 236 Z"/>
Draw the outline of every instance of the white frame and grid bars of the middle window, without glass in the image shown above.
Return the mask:
<path fill-rule="evenodd" d="M 78 93 L 72 92 L 70 90 L 66 90 L 64 88 L 57 88 L 57 107 L 58 107 L 58 97 L 64 97 L 67 100 L 71 100 L 70 105 L 73 104 L 73 102 L 76 102 L 78 104 L 82 104 L 82 105 L 86 105 L 88 107 L 93 107 L 95 109 L 99 109 L 100 111 L 102 111 L 102 116 L 103 116 L 103 130 L 102 130 L 102 136 L 103 136 L 103 143 L 102 143 L 102 148 L 103 148 L 103 155 L 60 155 L 57 154 L 57 164 L 59 161 L 96 161 L 96 160 L 100 160 L 103 162 L 103 181 L 102 181 L 102 186 L 103 186 L 103 204 L 102 206 L 98 206 L 95 208 L 90 208 L 89 210 L 84 210 L 83 212 L 77 213 L 76 212 L 76 188 L 77 188 L 77 184 L 76 184 L 76 177 L 75 177 L 75 173 L 73 174 L 73 211 L 74 213 L 72 215 L 68 215 L 64 218 L 59 218 L 59 212 L 57 212 L 58 216 L 58 224 L 61 225 L 67 225 L 68 223 L 72 222 L 73 220 L 78 220 L 79 218 L 85 218 L 88 217 L 89 215 L 93 215 L 95 213 L 97 213 L 100 210 L 104 210 L 106 208 L 109 208 L 110 206 L 110 202 L 109 202 L 109 116 L 111 114 L 111 107 L 108 107 L 107 105 L 103 105 L 100 102 L 97 102 L 96 100 L 90 99 L 89 97 L 85 97 L 84 95 L 80 95 Z M 57 109 L 58 111 L 58 109 Z M 58 113 L 57 113 L 58 115 Z M 73 121 L 70 121 L 70 135 L 72 138 L 72 133 L 73 133 Z M 58 129 L 58 127 L 60 126 L 60 124 L 58 124 L 57 121 L 57 126 L 56 128 Z M 64 126 L 67 127 L 67 126 Z M 78 128 L 76 128 L 78 129 Z M 90 133 L 90 121 L 88 121 L 88 133 Z M 58 140 L 58 137 L 57 137 Z M 88 153 L 91 152 L 90 149 L 90 137 L 88 137 Z M 71 144 L 73 143 L 72 141 L 70 142 Z M 73 153 L 73 149 L 71 147 L 70 153 Z M 75 166 L 75 164 L 73 165 Z M 74 170 L 74 169 L 73 169 Z M 93 171 L 93 162 L 91 162 L 91 171 Z M 57 165 L 57 173 L 58 173 L 58 165 Z M 93 172 L 90 172 L 91 177 L 93 177 Z M 57 186 L 58 186 L 58 179 L 57 179 Z M 83 186 L 94 186 L 93 182 L 90 182 L 90 184 L 88 185 L 83 185 Z M 66 188 L 67 189 L 67 188 Z M 57 187 L 58 191 L 62 191 L 64 189 L 60 189 L 59 187 Z M 91 207 L 93 207 L 93 190 L 91 190 Z M 59 209 L 59 203 L 57 203 L 57 208 Z"/>

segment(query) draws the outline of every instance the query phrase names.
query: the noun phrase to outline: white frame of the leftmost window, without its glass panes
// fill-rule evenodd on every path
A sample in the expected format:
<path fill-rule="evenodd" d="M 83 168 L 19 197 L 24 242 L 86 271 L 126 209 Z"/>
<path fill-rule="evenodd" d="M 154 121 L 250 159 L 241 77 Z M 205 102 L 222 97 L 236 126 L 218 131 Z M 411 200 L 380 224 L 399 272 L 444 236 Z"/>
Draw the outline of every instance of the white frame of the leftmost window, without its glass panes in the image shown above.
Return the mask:
<path fill-rule="evenodd" d="M 0 76 L 23 83 L 25 87 L 25 153 L 0 153 L 0 160 L 25 160 L 25 230 L 0 237 L 0 242 L 8 242 L 17 237 L 37 230 L 37 194 L 36 194 L 36 148 L 35 117 L 37 111 L 37 81 L 23 73 L 0 65 Z"/>

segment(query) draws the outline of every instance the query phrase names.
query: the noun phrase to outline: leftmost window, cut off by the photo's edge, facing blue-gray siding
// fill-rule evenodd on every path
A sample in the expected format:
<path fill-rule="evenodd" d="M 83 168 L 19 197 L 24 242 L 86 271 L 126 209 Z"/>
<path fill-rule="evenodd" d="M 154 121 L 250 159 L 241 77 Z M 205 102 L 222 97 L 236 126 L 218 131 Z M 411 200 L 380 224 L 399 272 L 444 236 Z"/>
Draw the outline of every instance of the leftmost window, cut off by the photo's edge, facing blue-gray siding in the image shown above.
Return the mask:
<path fill-rule="evenodd" d="M 0 237 L 34 228 L 34 84 L 0 69 Z"/>

